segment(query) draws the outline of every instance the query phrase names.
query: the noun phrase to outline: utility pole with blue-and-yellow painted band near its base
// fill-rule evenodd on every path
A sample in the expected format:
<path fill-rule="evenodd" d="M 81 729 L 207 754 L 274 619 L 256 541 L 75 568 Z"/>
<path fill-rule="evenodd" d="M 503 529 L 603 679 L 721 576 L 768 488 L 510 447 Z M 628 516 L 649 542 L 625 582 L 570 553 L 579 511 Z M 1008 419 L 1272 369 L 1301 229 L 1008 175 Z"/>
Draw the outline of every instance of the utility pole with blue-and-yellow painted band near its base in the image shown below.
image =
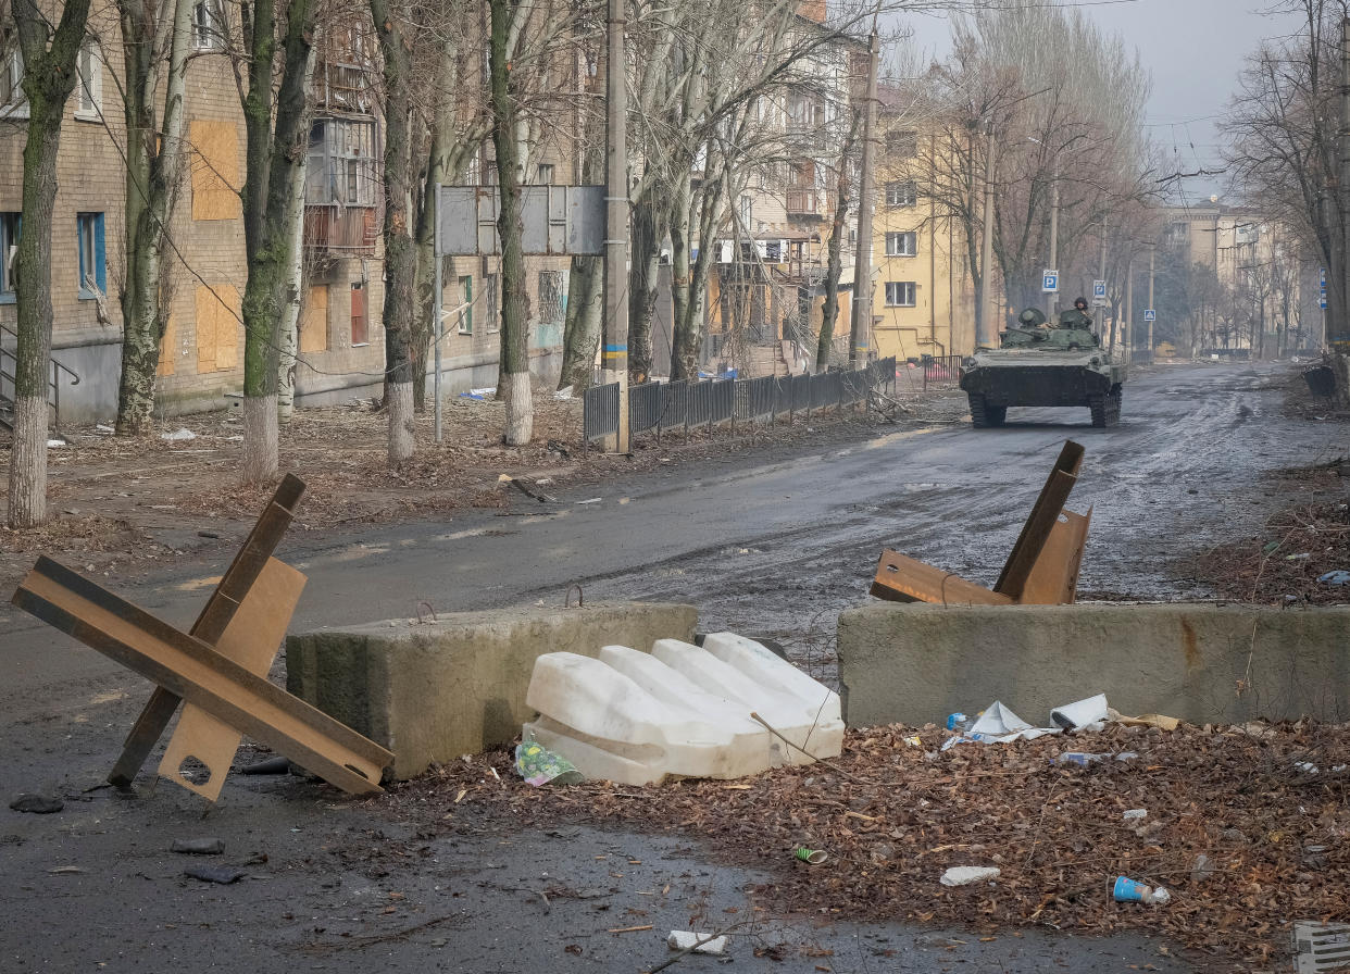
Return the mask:
<path fill-rule="evenodd" d="M 618 382 L 618 432 L 606 448 L 628 453 L 628 81 L 624 0 L 609 0 L 605 63 L 605 381 Z"/>

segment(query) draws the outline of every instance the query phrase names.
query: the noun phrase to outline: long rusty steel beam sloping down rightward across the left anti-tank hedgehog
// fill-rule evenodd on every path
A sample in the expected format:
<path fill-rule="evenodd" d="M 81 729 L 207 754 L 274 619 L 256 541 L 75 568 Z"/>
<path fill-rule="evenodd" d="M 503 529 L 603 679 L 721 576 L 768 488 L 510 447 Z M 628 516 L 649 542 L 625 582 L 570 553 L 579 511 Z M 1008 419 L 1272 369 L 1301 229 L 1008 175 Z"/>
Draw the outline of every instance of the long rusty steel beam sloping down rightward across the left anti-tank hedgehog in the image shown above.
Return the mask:
<path fill-rule="evenodd" d="M 393 754 L 144 609 L 39 558 L 14 604 L 354 794 Z"/>

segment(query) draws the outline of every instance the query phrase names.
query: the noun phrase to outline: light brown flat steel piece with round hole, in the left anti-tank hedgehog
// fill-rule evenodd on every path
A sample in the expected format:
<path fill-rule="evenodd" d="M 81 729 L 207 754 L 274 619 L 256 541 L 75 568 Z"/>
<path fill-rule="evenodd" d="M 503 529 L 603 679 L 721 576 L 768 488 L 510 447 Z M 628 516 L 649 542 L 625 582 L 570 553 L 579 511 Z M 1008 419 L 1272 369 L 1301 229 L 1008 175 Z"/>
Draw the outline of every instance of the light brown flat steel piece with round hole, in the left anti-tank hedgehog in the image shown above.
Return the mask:
<path fill-rule="evenodd" d="M 234 659 L 250 673 L 266 677 L 286 638 L 290 616 L 305 588 L 305 577 L 296 569 L 270 559 L 250 589 L 230 628 L 216 643 L 216 652 Z M 225 775 L 234 763 L 243 735 L 200 707 L 182 708 L 178 727 L 159 762 L 159 775 L 196 792 L 208 801 L 220 797 Z M 185 761 L 194 758 L 207 769 L 207 779 L 192 781 L 181 774 Z"/>

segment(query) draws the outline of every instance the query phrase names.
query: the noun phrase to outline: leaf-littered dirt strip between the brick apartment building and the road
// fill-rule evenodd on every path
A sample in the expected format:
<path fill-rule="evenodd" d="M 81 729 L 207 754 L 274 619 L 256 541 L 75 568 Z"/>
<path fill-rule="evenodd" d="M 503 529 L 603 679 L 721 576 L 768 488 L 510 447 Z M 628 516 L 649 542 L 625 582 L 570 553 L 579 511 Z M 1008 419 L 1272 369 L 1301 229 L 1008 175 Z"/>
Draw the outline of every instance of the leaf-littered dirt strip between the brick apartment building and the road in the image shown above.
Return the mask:
<path fill-rule="evenodd" d="M 616 455 L 582 440 L 579 400 L 537 394 L 535 436 L 524 447 L 502 444 L 504 409 L 495 401 L 448 400 L 440 443 L 433 416 L 418 415 L 417 454 L 398 467 L 387 462 L 387 416 L 369 400 L 296 411 L 281 430 L 281 467 L 304 478 L 308 494 L 292 531 L 321 539 L 352 526 L 504 508 L 517 489 L 513 478 L 552 493 L 666 463 L 786 457 L 896 428 L 960 423 L 967 415 L 964 394 L 903 393 L 895 421 L 828 411 L 772 426 L 644 435 L 630 454 Z M 146 439 L 113 436 L 99 426 L 68 430 L 65 439 L 49 450 L 49 524 L 4 527 L 0 498 L 0 586 L 18 582 L 38 554 L 107 575 L 178 563 L 198 551 L 215 557 L 243 536 L 275 488 L 240 482 L 236 409 L 166 419 Z M 8 473 L 7 439 L 0 450 Z"/>

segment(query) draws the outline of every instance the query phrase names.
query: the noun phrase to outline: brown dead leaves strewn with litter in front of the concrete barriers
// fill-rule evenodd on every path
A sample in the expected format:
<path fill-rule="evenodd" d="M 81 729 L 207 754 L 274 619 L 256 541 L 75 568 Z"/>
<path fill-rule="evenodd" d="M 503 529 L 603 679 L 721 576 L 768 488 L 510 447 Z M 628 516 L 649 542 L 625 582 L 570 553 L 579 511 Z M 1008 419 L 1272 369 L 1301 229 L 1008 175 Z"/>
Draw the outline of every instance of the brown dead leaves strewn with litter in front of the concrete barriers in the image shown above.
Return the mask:
<path fill-rule="evenodd" d="M 699 838 L 768 873 L 760 906 L 979 929 L 1139 929 L 1257 970 L 1296 920 L 1350 920 L 1350 725 L 1176 731 L 1111 723 L 1010 743 L 883 727 L 832 762 L 738 782 L 537 789 L 509 752 L 466 758 L 393 801 L 427 824 L 595 823 Z M 454 824 L 448 824 L 454 828 Z M 825 850 L 810 866 L 794 850 Z M 990 881 L 946 886 L 953 867 Z M 1165 902 L 1116 902 L 1119 877 Z"/>

